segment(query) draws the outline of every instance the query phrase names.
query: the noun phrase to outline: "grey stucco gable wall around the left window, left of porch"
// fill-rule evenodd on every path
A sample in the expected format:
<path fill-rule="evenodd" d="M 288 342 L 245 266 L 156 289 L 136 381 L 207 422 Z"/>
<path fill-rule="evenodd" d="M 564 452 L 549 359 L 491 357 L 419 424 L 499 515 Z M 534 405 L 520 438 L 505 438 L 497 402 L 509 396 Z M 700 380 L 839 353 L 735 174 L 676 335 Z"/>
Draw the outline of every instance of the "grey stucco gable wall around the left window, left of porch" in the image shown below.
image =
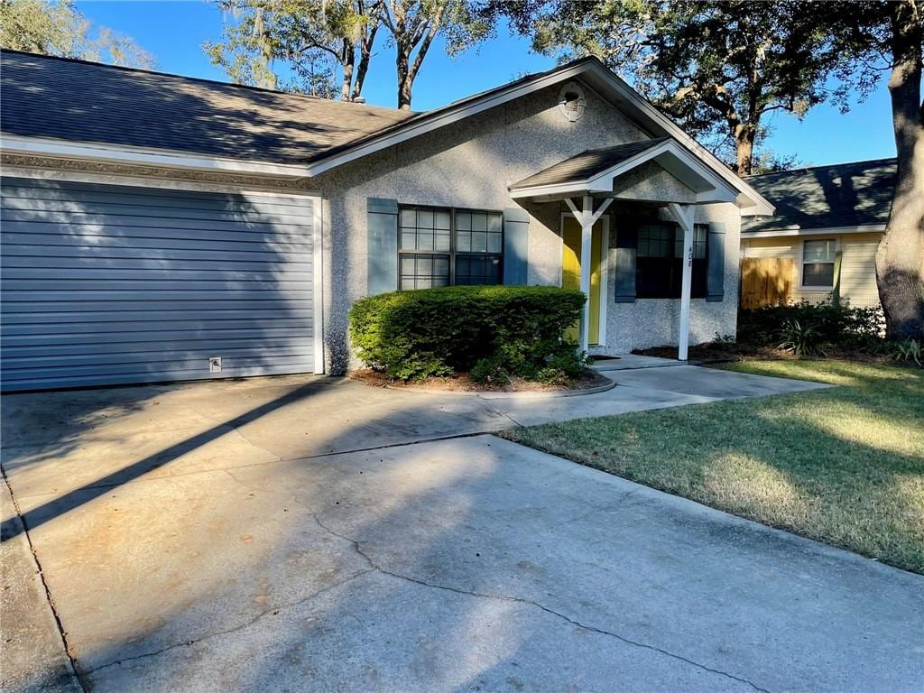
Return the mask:
<path fill-rule="evenodd" d="M 333 372 L 346 370 L 347 313 L 367 287 L 367 199 L 401 204 L 504 210 L 517 207 L 507 187 L 569 156 L 647 139 L 592 91 L 571 122 L 558 108 L 560 88 L 538 91 L 455 126 L 346 164 L 310 181 L 324 197 L 325 352 Z M 559 283 L 559 205 L 522 205 L 529 225 L 529 283 Z"/>

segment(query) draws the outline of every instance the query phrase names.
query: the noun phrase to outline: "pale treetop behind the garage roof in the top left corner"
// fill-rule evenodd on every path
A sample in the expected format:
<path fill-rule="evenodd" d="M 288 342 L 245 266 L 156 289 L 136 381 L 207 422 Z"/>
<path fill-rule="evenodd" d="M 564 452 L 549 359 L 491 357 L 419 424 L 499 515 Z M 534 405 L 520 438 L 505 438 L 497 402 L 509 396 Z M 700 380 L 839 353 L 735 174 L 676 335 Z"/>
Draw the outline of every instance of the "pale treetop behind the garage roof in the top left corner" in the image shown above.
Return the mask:
<path fill-rule="evenodd" d="M 0 0 L 0 45 L 126 67 L 154 65 L 151 54 L 128 36 L 94 26 L 72 0 Z"/>

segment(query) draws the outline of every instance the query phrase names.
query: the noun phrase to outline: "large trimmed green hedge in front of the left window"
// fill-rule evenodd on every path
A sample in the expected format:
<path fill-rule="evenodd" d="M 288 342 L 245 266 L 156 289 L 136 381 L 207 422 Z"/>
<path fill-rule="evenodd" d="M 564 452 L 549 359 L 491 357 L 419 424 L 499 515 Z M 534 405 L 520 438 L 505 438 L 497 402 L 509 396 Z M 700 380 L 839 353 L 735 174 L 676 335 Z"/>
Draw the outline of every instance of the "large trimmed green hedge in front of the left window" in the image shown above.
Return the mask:
<path fill-rule="evenodd" d="M 362 298 L 349 315 L 359 358 L 397 380 L 468 372 L 482 383 L 586 362 L 563 334 L 584 305 L 553 286 L 451 286 Z M 573 376 L 570 376 L 573 377 Z"/>

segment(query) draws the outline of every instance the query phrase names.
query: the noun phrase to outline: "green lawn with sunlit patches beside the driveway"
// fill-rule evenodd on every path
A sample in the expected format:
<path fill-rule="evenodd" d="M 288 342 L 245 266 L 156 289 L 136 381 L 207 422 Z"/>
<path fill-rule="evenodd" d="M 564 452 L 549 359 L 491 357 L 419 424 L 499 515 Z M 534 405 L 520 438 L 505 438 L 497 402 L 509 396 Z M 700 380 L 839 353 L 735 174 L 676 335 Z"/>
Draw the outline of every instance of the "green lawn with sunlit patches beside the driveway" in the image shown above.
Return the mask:
<path fill-rule="evenodd" d="M 845 361 L 723 368 L 838 387 L 505 436 L 924 573 L 924 371 Z"/>

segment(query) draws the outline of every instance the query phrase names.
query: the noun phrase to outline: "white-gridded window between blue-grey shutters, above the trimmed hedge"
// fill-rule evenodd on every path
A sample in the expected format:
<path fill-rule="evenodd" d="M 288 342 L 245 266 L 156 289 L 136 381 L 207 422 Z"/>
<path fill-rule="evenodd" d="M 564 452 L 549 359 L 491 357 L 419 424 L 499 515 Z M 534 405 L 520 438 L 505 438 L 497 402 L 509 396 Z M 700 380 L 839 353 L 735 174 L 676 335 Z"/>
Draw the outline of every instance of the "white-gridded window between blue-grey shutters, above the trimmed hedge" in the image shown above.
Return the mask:
<path fill-rule="evenodd" d="M 501 283 L 501 213 L 402 207 L 399 226 L 402 289 Z"/>

